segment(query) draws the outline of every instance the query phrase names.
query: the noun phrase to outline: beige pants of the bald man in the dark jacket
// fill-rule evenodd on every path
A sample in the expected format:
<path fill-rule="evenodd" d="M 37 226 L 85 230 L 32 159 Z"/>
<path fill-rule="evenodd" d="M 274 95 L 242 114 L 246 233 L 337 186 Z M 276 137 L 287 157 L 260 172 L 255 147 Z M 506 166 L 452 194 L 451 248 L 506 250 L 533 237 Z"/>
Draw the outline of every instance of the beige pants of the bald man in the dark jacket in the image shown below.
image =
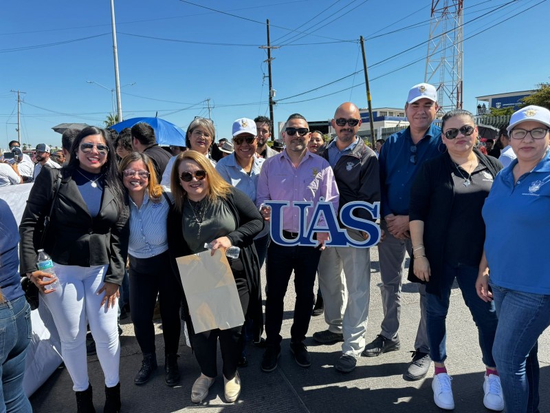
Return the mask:
<path fill-rule="evenodd" d="M 355 240 L 363 240 L 358 231 L 348 230 L 348 234 Z M 319 260 L 325 321 L 329 331 L 342 332 L 342 353 L 353 357 L 359 357 L 365 347 L 371 298 L 370 254 L 369 248 L 330 247 L 322 251 Z"/>

